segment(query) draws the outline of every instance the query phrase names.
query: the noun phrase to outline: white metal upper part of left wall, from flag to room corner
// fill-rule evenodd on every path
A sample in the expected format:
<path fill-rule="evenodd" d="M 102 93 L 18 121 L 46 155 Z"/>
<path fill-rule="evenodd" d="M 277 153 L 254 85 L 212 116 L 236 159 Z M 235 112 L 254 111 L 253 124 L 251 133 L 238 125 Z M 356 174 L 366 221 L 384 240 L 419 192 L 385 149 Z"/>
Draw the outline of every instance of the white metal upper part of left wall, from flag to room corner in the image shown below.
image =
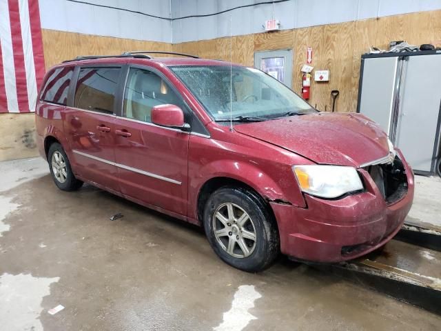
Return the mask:
<path fill-rule="evenodd" d="M 166 19 L 66 0 L 39 0 L 41 27 L 100 36 L 172 42 L 168 0 L 87 0 L 87 2 L 145 12 Z"/>

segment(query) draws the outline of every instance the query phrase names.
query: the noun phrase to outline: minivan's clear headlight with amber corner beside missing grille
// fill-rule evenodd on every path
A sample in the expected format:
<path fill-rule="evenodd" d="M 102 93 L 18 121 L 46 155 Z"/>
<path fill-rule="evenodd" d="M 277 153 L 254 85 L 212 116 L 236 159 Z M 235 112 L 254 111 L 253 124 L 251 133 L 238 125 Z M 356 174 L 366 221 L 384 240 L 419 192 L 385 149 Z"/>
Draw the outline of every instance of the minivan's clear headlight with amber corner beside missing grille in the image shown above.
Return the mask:
<path fill-rule="evenodd" d="M 298 184 L 303 192 L 322 198 L 336 198 L 362 190 L 356 168 L 340 165 L 294 165 Z"/>

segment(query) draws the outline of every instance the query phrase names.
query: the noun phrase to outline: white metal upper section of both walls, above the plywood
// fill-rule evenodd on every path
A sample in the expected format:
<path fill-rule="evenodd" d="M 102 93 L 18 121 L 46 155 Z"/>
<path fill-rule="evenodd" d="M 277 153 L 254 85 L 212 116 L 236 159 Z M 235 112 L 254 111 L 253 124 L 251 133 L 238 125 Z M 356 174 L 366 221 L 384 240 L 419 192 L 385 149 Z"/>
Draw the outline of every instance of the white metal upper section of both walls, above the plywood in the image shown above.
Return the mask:
<path fill-rule="evenodd" d="M 271 3 L 216 16 L 178 19 L 195 14 L 212 14 L 259 1 L 88 0 L 103 6 L 136 10 L 166 19 L 67 0 L 39 0 L 39 3 L 42 28 L 180 43 L 229 36 L 230 17 L 233 35 L 262 32 L 265 20 L 272 18 Z M 441 0 L 290 0 L 274 4 L 274 17 L 280 20 L 280 28 L 286 30 L 437 9 L 441 9 Z M 170 18 L 176 21 L 170 22 Z"/>

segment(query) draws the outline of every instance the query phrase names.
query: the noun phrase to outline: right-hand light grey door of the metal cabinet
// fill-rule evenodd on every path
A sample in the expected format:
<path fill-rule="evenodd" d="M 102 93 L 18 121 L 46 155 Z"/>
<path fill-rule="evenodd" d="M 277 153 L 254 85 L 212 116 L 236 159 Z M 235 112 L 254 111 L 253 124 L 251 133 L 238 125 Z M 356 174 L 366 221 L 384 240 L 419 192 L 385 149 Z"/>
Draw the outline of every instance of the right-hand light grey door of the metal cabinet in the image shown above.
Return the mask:
<path fill-rule="evenodd" d="M 441 55 L 407 59 L 396 145 L 414 170 L 433 171 L 441 107 Z"/>

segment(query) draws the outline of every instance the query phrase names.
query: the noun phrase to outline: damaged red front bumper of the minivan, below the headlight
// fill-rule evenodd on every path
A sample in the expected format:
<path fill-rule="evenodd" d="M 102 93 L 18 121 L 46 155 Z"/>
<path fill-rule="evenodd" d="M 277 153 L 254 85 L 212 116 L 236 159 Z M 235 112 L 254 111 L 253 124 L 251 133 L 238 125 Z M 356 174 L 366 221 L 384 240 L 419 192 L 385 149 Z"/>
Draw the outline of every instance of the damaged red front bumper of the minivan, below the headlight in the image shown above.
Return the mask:
<path fill-rule="evenodd" d="M 280 250 L 295 259 L 338 262 L 360 257 L 391 240 L 411 209 L 413 173 L 403 160 L 407 193 L 387 203 L 366 170 L 366 190 L 327 200 L 305 194 L 307 208 L 271 203 L 280 233 Z"/>

